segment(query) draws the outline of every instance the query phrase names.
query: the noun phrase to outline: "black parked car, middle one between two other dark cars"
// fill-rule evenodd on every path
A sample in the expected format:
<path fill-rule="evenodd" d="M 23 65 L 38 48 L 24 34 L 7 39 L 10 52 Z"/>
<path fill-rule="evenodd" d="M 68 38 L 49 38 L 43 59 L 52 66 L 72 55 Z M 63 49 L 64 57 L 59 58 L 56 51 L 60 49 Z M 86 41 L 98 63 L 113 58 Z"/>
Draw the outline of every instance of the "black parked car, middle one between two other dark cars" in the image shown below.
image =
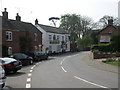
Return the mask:
<path fill-rule="evenodd" d="M 10 55 L 9 57 L 14 58 L 16 60 L 20 60 L 22 62 L 22 65 L 33 64 L 33 58 L 23 53 L 16 53 L 16 54 Z"/>

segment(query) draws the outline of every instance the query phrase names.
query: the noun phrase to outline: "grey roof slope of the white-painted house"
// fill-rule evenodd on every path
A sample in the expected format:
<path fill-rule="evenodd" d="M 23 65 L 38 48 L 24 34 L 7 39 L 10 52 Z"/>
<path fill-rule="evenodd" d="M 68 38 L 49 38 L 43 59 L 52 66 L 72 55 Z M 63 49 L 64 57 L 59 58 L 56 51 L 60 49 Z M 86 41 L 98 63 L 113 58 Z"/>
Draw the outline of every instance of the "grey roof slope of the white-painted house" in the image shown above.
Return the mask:
<path fill-rule="evenodd" d="M 42 25 L 38 24 L 42 29 L 44 29 L 46 32 L 50 33 L 58 33 L 58 34 L 68 34 L 64 29 L 62 28 L 57 28 L 57 27 L 52 27 L 52 26 L 47 26 L 47 25 Z"/>

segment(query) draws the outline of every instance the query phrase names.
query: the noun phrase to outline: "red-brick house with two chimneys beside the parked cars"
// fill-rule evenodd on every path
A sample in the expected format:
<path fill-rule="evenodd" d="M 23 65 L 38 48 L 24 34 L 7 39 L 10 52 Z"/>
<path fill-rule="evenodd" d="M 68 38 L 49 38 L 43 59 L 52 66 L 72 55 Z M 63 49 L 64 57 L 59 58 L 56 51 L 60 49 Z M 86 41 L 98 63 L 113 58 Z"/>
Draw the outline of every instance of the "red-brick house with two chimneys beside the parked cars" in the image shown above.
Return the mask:
<path fill-rule="evenodd" d="M 2 56 L 41 50 L 42 32 L 33 24 L 21 21 L 18 13 L 16 20 L 8 19 L 6 8 L 2 14 Z"/>

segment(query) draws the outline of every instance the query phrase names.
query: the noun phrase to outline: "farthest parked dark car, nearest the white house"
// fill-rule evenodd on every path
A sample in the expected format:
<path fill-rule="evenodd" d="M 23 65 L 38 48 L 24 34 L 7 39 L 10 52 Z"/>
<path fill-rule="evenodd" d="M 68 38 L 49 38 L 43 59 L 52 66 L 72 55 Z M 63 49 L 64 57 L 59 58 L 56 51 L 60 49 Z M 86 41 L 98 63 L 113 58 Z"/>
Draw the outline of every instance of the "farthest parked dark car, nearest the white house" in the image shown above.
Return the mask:
<path fill-rule="evenodd" d="M 29 55 L 33 57 L 34 60 L 37 60 L 37 61 L 48 59 L 48 54 L 42 51 L 31 52 L 29 53 Z"/>

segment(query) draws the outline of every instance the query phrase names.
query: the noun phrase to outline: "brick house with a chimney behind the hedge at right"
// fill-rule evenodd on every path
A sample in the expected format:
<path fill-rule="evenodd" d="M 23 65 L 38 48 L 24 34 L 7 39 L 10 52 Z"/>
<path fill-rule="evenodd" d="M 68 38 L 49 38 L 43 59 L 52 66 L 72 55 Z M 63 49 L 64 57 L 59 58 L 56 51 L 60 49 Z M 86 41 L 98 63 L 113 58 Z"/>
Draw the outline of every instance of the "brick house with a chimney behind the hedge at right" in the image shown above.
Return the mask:
<path fill-rule="evenodd" d="M 119 34 L 118 27 L 113 26 L 113 20 L 108 20 L 108 25 L 98 33 L 98 43 L 109 43 L 113 35 Z"/>

